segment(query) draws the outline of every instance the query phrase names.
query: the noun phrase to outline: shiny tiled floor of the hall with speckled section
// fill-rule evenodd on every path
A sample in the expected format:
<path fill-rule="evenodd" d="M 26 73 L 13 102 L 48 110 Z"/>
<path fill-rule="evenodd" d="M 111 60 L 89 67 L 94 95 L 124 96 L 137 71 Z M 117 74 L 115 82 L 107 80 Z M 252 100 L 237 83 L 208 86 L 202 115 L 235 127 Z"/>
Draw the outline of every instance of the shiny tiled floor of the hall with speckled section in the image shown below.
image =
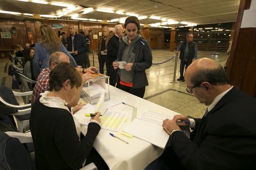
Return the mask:
<path fill-rule="evenodd" d="M 164 62 L 175 55 L 175 52 L 169 52 L 168 50 L 152 50 L 152 53 L 153 63 Z M 226 52 L 198 51 L 197 56 L 198 58 L 211 58 L 221 65 L 224 65 L 227 59 Z M 92 64 L 92 54 L 89 57 Z M 12 77 L 7 74 L 7 63 L 9 62 L 9 60 L 0 60 L 0 80 L 1 85 L 11 88 Z M 178 59 L 176 79 L 180 76 L 179 64 L 180 60 Z M 186 92 L 185 82 L 169 83 L 170 80 L 173 80 L 174 65 L 175 58 L 163 64 L 152 65 L 146 71 L 149 85 L 146 87 L 144 98 L 185 116 L 190 115 L 201 118 L 206 106 Z M 95 66 L 99 66 L 97 56 L 95 57 Z"/>

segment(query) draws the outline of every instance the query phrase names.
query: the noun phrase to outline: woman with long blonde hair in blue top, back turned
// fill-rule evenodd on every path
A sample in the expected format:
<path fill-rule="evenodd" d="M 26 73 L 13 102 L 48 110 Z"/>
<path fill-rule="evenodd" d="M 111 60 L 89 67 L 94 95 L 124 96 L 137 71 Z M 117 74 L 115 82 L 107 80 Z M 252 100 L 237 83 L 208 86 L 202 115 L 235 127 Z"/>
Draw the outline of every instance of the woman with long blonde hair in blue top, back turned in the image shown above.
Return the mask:
<path fill-rule="evenodd" d="M 55 51 L 64 52 L 69 57 L 70 63 L 77 67 L 76 61 L 68 53 L 64 45 L 61 43 L 61 39 L 55 34 L 51 27 L 48 25 L 42 25 L 40 27 L 40 32 L 41 41 L 35 44 L 35 56 L 33 60 L 33 74 L 35 78 L 37 78 L 42 69 L 49 67 L 50 55 Z"/>

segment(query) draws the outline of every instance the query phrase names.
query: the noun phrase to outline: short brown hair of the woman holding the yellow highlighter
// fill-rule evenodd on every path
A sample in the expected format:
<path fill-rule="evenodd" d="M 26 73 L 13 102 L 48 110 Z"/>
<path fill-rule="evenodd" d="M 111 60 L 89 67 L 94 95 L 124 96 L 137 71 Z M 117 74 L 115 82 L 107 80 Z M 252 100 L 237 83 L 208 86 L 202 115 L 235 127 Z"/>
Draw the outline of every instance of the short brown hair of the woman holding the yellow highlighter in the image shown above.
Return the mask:
<path fill-rule="evenodd" d="M 49 90 L 61 90 L 66 80 L 70 80 L 71 88 L 80 87 L 82 85 L 82 77 L 71 63 L 58 63 L 50 72 Z"/>

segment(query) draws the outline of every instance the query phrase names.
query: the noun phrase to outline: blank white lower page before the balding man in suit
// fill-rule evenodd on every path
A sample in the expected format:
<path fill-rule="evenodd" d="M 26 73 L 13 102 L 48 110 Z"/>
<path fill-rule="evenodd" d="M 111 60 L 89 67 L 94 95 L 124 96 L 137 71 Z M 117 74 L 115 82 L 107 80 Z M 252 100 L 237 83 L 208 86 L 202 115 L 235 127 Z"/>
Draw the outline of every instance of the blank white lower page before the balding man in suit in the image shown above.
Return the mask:
<path fill-rule="evenodd" d="M 141 119 L 134 119 L 123 131 L 162 149 L 164 149 L 169 139 L 169 134 L 161 125 Z"/>

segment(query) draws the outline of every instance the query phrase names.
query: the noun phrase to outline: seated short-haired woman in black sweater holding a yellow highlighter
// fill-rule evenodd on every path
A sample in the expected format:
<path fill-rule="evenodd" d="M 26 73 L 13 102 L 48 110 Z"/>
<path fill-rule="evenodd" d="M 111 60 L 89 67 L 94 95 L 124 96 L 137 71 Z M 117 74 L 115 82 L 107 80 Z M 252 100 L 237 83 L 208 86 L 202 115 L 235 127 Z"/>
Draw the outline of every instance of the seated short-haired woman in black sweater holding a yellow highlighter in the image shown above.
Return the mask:
<path fill-rule="evenodd" d="M 87 134 L 79 141 L 79 122 L 67 107 L 73 106 L 81 85 L 81 75 L 70 63 L 59 63 L 50 72 L 50 91 L 35 101 L 29 119 L 37 170 L 79 169 L 89 156 L 101 129 L 100 112 L 91 118 Z"/>

